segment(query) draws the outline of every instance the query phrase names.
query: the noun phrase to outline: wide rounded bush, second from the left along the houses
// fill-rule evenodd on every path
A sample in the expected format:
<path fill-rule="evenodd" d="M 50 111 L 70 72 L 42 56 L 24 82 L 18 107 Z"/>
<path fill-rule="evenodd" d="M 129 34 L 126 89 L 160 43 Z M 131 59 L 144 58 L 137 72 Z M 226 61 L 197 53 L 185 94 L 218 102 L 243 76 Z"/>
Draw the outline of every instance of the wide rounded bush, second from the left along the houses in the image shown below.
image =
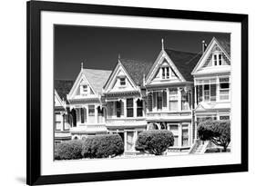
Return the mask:
<path fill-rule="evenodd" d="M 82 156 L 85 158 L 115 157 L 123 152 L 124 143 L 118 134 L 89 136 L 82 147 Z"/>

